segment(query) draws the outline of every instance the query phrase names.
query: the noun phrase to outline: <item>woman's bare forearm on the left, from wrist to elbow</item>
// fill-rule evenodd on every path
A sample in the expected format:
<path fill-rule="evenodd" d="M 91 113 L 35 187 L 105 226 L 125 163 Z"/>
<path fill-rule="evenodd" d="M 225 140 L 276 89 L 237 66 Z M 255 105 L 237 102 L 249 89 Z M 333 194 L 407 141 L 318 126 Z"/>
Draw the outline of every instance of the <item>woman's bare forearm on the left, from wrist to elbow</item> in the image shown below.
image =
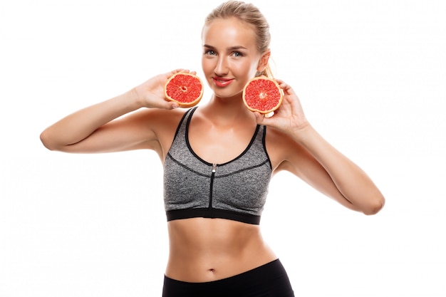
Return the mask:
<path fill-rule="evenodd" d="M 130 90 L 78 110 L 46 128 L 41 133 L 41 141 L 50 150 L 80 142 L 111 120 L 140 108 L 137 99 L 134 91 Z"/>

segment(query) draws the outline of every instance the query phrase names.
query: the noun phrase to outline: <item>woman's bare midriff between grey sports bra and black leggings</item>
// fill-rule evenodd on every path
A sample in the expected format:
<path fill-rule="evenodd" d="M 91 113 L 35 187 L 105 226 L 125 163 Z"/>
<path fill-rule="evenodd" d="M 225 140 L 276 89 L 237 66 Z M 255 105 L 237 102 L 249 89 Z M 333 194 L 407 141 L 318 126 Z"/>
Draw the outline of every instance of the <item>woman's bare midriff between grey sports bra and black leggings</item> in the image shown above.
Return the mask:
<path fill-rule="evenodd" d="M 276 259 L 254 224 L 192 218 L 171 221 L 168 229 L 165 274 L 180 281 L 215 281 Z"/>

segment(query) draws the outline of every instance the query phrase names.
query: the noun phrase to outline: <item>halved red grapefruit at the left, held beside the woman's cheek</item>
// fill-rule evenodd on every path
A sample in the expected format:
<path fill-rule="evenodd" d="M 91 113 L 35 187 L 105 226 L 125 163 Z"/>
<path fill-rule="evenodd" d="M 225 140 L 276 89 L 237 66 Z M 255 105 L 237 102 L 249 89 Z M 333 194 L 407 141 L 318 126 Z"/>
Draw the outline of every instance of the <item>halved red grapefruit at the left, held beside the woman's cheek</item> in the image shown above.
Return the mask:
<path fill-rule="evenodd" d="M 164 95 L 182 108 L 190 108 L 203 97 L 202 80 L 192 73 L 179 72 L 172 75 L 165 84 Z"/>

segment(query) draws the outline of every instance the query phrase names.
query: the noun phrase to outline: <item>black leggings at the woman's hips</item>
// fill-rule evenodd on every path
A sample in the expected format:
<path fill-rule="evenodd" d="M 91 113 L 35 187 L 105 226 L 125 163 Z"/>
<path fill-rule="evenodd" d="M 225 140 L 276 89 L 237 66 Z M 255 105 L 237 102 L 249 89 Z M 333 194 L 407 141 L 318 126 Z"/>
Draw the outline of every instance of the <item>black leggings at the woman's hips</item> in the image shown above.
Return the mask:
<path fill-rule="evenodd" d="M 250 271 L 205 283 L 164 278 L 162 297 L 294 297 L 279 259 Z"/>

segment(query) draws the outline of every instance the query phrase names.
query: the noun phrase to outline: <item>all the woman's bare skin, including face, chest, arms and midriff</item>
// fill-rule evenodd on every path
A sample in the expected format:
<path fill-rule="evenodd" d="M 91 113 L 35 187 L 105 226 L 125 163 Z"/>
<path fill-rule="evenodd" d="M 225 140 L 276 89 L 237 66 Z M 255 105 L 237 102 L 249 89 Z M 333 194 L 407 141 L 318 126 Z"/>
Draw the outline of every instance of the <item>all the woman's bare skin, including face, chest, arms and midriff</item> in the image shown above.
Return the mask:
<path fill-rule="evenodd" d="M 244 85 L 256 71 L 264 70 L 270 56 L 269 51 L 257 51 L 249 24 L 214 20 L 203 28 L 202 44 L 202 69 L 214 93 L 190 123 L 190 144 L 197 155 L 217 164 L 233 160 L 249 144 L 256 125 L 266 125 L 266 149 L 274 173 L 291 172 L 364 214 L 375 214 L 383 207 L 384 197 L 367 174 L 311 126 L 291 86 L 277 80 L 285 95 L 271 118 L 244 107 Z M 163 94 L 167 78 L 178 71 L 185 70 L 157 75 L 122 95 L 68 115 L 41 133 L 43 145 L 49 150 L 83 153 L 154 150 L 164 162 L 185 113 Z M 170 256 L 165 273 L 170 278 L 214 281 L 277 258 L 258 225 L 204 218 L 167 225 Z"/>

